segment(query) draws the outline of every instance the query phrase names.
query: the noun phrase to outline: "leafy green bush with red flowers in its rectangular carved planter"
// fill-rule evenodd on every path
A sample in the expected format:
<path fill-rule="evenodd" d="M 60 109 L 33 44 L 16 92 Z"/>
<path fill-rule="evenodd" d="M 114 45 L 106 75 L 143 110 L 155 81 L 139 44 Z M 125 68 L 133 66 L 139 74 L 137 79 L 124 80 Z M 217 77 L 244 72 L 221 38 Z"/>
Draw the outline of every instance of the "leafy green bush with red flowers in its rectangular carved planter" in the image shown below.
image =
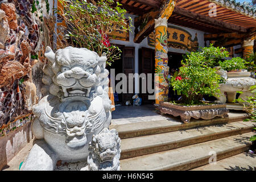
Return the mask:
<path fill-rule="evenodd" d="M 210 49 L 212 49 L 210 47 Z M 205 49 L 209 51 L 209 49 Z M 212 56 L 209 56 L 212 57 Z M 222 78 L 212 68 L 214 59 L 207 59 L 204 51 L 191 52 L 184 57 L 178 77 L 169 77 L 169 84 L 181 92 L 181 99 L 177 102 L 160 102 L 159 110 L 162 114 L 180 116 L 185 123 L 191 117 L 212 119 L 214 117 L 228 117 L 225 104 L 214 104 L 203 101 L 204 95 L 213 96 L 220 93 L 218 83 Z"/>

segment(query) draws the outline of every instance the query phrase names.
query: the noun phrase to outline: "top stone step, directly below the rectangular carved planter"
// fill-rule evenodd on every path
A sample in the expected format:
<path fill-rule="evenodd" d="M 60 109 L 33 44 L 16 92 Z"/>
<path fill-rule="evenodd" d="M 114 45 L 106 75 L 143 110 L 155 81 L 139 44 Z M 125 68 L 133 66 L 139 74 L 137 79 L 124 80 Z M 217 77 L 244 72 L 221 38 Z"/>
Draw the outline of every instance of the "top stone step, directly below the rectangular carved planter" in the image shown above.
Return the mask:
<path fill-rule="evenodd" d="M 216 117 L 209 120 L 191 119 L 189 123 L 183 123 L 179 119 L 165 119 L 160 121 L 148 121 L 130 123 L 125 125 L 110 125 L 110 129 L 116 129 L 121 139 L 141 137 L 145 135 L 168 133 L 171 131 L 178 131 L 184 129 L 191 129 L 194 127 L 217 125 L 222 123 L 230 123 L 242 121 L 247 118 L 245 113 L 229 113 L 229 118 Z"/>

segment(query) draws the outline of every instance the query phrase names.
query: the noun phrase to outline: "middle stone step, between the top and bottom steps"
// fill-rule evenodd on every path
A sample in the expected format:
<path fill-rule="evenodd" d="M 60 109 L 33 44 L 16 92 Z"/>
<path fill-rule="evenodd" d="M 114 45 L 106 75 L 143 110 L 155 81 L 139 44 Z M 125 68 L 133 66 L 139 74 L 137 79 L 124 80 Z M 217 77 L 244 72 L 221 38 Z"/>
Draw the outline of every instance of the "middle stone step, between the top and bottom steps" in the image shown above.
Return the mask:
<path fill-rule="evenodd" d="M 170 133 L 147 135 L 144 137 L 121 140 L 121 159 L 153 154 L 155 152 L 172 150 L 191 144 L 209 140 L 249 133 L 256 124 L 253 122 L 233 122 L 222 125 L 197 127 L 196 129 L 179 130 Z"/>

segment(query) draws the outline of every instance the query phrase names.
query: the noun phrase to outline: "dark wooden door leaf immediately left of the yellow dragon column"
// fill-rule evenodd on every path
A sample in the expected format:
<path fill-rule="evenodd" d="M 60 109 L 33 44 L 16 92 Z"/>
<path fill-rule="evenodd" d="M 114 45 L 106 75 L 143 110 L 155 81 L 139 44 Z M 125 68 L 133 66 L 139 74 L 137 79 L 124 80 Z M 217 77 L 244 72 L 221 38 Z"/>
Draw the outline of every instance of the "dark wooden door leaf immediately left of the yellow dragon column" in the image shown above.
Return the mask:
<path fill-rule="evenodd" d="M 155 50 L 142 47 L 139 49 L 139 75 L 141 73 L 154 74 L 155 70 Z M 147 78 L 148 79 L 148 78 Z M 147 80 L 146 80 L 147 82 Z M 147 84 L 146 84 L 147 85 Z M 152 89 L 154 89 L 154 75 L 152 75 Z M 139 96 L 142 98 L 142 104 L 152 104 L 154 100 L 148 100 L 148 89 L 147 93 L 142 93 L 142 78 L 139 80 Z"/>

